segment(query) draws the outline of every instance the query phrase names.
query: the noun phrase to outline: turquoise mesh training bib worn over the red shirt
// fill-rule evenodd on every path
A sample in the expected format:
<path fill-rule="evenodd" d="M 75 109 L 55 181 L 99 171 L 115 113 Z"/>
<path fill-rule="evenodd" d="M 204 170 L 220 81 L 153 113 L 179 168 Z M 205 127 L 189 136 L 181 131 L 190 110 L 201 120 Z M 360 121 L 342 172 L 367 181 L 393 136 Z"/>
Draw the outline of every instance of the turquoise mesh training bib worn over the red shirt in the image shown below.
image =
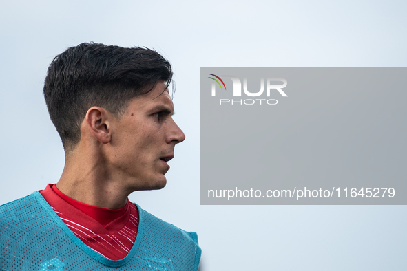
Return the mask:
<path fill-rule="evenodd" d="M 137 206 L 136 241 L 112 261 L 86 246 L 39 192 L 0 206 L 0 270 L 198 270 L 195 232 L 185 232 Z"/>

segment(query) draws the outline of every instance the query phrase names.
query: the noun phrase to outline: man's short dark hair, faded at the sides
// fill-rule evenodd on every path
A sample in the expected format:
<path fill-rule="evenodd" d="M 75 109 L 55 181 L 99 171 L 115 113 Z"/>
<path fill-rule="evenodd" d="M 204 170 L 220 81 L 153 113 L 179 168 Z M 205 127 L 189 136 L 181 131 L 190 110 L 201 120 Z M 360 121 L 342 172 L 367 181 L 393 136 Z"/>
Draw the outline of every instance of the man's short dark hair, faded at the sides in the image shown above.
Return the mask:
<path fill-rule="evenodd" d="M 50 118 L 65 151 L 81 140 L 81 122 L 92 106 L 120 116 L 129 100 L 172 80 L 171 64 L 155 50 L 81 43 L 54 58 L 44 84 Z"/>

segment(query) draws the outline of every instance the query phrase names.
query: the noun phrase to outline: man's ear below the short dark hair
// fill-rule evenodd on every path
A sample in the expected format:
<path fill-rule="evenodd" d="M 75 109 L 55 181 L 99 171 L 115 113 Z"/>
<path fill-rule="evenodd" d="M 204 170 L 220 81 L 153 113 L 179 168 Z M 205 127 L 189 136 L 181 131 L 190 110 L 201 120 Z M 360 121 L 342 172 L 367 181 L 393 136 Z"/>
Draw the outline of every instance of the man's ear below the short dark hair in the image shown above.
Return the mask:
<path fill-rule="evenodd" d="M 107 144 L 112 139 L 111 118 L 112 113 L 101 107 L 91 107 L 87 110 L 85 124 L 90 133 L 103 144 Z"/>

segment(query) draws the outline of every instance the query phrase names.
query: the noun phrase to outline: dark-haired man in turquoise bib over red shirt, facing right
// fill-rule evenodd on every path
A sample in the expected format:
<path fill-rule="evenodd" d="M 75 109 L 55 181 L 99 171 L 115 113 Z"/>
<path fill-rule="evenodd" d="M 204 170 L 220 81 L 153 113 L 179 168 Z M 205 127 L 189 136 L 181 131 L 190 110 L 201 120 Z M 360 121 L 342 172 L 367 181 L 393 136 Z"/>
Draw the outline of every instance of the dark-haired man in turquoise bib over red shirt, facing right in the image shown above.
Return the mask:
<path fill-rule="evenodd" d="M 198 270 L 196 233 L 127 199 L 165 186 L 185 139 L 171 77 L 163 56 L 140 47 L 82 43 L 54 58 L 43 91 L 65 168 L 0 207 L 0 270 Z"/>

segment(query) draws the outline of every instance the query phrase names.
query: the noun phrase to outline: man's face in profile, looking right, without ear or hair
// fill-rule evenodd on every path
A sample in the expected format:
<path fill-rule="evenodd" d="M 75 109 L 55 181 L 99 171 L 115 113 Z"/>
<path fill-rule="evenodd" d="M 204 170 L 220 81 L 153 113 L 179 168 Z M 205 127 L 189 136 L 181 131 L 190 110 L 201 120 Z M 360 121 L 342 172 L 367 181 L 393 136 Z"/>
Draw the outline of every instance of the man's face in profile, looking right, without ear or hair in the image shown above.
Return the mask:
<path fill-rule="evenodd" d="M 136 190 L 163 188 L 167 162 L 185 135 L 172 119 L 174 104 L 163 81 L 148 94 L 129 101 L 127 111 L 112 123 L 112 164 Z M 131 177 L 131 178 L 128 178 Z"/>

